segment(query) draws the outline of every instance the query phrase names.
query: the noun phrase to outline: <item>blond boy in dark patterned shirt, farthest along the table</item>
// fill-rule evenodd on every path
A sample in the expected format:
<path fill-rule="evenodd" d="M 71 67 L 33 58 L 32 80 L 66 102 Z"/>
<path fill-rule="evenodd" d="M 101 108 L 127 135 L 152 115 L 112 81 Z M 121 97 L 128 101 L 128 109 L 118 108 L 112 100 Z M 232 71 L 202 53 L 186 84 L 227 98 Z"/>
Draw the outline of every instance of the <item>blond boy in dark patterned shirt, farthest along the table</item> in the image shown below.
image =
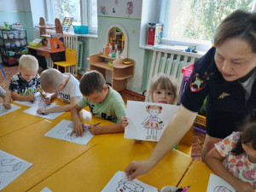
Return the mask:
<path fill-rule="evenodd" d="M 32 55 L 22 55 L 16 73 L 9 83 L 10 96 L 18 101 L 35 101 L 40 86 L 38 60 Z"/>

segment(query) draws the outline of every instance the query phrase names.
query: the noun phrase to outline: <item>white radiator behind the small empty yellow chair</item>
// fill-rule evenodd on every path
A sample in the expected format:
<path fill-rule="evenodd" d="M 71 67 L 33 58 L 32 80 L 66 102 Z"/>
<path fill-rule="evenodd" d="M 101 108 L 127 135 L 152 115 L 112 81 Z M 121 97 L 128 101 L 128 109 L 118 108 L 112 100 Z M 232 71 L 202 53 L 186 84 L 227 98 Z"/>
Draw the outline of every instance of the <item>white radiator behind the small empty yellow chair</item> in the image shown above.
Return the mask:
<path fill-rule="evenodd" d="M 51 33 L 55 33 L 55 32 L 47 32 L 47 34 L 51 34 Z M 33 31 L 33 38 L 40 38 L 40 32 L 38 28 L 34 28 Z M 79 41 L 79 37 L 77 35 L 70 35 L 70 34 L 63 34 L 63 38 L 64 38 L 64 46 L 65 48 L 71 48 L 71 49 L 77 49 L 77 61 L 78 61 L 78 69 L 81 69 L 82 65 L 83 65 L 83 47 L 84 47 L 84 43 L 83 41 Z M 53 67 L 53 62 L 49 59 L 49 58 L 45 58 L 47 61 L 47 67 L 51 68 Z M 69 69 L 70 70 L 70 69 Z M 73 73 L 73 67 L 71 67 L 70 73 Z"/>

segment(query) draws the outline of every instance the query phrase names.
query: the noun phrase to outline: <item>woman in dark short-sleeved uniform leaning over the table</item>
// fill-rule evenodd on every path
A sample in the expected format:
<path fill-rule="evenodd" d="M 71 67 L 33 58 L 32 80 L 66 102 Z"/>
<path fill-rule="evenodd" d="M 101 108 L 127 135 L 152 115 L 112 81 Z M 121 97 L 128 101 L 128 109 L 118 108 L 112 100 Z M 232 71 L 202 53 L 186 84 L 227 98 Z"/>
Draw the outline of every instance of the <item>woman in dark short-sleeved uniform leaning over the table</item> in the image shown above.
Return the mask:
<path fill-rule="evenodd" d="M 256 112 L 256 13 L 236 10 L 218 26 L 214 47 L 195 61 L 182 104 L 147 160 L 132 161 L 129 179 L 152 169 L 181 140 L 207 96 L 207 136 L 201 158 Z"/>

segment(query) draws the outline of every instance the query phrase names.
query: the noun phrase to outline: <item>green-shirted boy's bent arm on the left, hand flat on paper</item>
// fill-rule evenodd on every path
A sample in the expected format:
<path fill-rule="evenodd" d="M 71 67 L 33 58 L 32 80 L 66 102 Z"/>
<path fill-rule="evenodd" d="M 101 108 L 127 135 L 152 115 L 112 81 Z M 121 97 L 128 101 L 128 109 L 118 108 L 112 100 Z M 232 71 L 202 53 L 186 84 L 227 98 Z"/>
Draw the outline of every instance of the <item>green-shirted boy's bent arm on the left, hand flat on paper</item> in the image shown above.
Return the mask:
<path fill-rule="evenodd" d="M 77 137 L 82 137 L 84 133 L 85 127 L 79 118 L 79 112 L 81 110 L 82 108 L 79 108 L 78 104 L 75 104 L 73 108 L 71 108 L 71 117 L 73 120 L 73 131 L 70 133 L 70 135 L 75 133 Z"/>

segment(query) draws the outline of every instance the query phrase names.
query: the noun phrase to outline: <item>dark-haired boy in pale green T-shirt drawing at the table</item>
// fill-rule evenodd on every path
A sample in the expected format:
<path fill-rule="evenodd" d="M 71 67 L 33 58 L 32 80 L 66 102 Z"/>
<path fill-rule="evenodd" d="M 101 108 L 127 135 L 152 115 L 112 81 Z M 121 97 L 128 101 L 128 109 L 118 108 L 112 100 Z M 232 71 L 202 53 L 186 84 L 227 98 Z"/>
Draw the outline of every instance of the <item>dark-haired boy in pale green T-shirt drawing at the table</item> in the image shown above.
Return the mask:
<path fill-rule="evenodd" d="M 116 123 L 115 125 L 96 126 L 90 125 L 89 131 L 92 134 L 123 132 L 124 128 L 120 122 L 125 116 L 125 103 L 116 90 L 106 84 L 102 73 L 90 71 L 84 73 L 80 80 L 80 91 L 83 98 L 71 109 L 74 123 L 73 133 L 82 136 L 85 129 L 79 119 L 79 111 L 89 106 L 90 113 L 97 118 L 107 119 Z"/>

